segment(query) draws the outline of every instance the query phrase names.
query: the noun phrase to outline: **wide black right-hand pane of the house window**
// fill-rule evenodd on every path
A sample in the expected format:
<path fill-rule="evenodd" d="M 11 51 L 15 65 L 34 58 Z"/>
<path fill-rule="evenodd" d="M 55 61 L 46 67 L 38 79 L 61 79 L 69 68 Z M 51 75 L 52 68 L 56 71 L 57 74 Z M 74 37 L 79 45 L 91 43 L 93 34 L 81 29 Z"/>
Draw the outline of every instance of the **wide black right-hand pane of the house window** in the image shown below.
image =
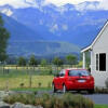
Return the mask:
<path fill-rule="evenodd" d="M 106 71 L 106 54 L 99 54 L 99 71 Z"/>

